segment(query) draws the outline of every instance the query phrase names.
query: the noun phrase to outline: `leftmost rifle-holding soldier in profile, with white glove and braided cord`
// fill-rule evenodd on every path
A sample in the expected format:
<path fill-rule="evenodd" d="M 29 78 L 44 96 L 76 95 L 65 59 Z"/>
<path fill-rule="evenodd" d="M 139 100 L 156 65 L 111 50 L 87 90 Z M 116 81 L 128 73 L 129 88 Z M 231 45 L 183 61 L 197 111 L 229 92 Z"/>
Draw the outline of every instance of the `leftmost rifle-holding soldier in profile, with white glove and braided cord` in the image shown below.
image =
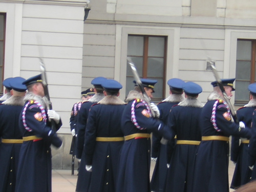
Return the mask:
<path fill-rule="evenodd" d="M 23 136 L 20 148 L 15 192 L 51 192 L 52 162 L 51 144 L 60 147 L 62 141 L 52 130 L 51 121 L 56 123 L 56 131 L 61 126 L 59 115 L 48 110 L 42 97 L 45 96 L 41 75 L 23 82 L 27 86 L 25 105 L 19 117 L 19 128 Z"/>

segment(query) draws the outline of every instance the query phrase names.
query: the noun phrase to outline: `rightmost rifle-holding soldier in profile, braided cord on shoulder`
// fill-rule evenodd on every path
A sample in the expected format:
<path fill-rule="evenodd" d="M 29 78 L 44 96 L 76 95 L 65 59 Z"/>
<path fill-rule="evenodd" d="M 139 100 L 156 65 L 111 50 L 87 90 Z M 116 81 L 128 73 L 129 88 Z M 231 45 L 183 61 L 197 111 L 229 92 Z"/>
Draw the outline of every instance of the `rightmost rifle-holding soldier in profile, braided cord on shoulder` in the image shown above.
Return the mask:
<path fill-rule="evenodd" d="M 234 79 L 222 79 L 227 96 L 231 97 Z M 227 103 L 217 82 L 211 83 L 214 92 L 208 96 L 208 101 L 201 113 L 202 141 L 198 147 L 195 164 L 193 191 L 227 192 L 228 186 L 228 155 L 229 136 L 249 138 L 251 131 L 244 123 L 234 123 Z"/>

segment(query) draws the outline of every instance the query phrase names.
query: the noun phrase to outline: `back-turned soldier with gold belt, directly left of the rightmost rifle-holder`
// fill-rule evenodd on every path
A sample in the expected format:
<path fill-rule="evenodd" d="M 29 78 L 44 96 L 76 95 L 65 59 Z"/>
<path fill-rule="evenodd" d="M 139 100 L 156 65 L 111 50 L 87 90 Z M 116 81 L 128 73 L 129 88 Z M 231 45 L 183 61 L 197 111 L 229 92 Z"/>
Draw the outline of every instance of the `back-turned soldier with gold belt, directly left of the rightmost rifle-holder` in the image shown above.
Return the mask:
<path fill-rule="evenodd" d="M 192 190 L 194 164 L 201 141 L 200 114 L 203 104 L 197 99 L 202 88 L 194 82 L 183 84 L 185 100 L 174 105 L 168 116 L 168 127 L 177 136 L 166 179 L 166 192 Z"/>

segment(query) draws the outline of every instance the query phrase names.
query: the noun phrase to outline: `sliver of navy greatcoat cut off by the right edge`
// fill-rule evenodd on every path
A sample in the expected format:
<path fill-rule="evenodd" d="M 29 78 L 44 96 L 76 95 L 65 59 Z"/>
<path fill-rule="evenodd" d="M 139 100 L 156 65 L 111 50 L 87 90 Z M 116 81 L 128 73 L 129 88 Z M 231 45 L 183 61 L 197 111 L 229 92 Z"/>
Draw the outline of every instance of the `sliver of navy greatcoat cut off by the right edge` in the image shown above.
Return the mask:
<path fill-rule="evenodd" d="M 256 110 L 253 111 L 251 119 L 251 138 L 248 152 L 248 165 L 254 166 L 252 170 L 251 180 L 256 179 Z"/>

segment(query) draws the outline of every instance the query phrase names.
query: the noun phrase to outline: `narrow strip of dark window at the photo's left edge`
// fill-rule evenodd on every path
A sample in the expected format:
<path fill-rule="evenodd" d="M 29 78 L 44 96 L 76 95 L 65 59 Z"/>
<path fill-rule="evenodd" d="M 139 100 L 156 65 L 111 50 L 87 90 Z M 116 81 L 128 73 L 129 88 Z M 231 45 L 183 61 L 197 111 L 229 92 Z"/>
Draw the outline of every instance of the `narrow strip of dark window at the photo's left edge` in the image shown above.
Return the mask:
<path fill-rule="evenodd" d="M 3 78 L 4 78 L 4 63 L 5 63 L 5 24 L 6 14 L 0 13 L 0 92 L 3 94 Z"/>

